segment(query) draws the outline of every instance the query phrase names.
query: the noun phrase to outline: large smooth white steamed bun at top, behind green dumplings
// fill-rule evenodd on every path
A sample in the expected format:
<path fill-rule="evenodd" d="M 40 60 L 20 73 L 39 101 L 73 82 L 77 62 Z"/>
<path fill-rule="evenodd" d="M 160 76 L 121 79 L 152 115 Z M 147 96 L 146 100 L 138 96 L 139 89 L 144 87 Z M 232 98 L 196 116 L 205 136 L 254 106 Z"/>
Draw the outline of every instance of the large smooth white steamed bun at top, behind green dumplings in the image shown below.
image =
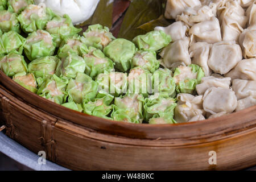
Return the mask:
<path fill-rule="evenodd" d="M 85 22 L 94 13 L 100 0 L 35 0 L 35 3 L 45 3 L 57 15 L 68 14 L 74 24 Z"/>

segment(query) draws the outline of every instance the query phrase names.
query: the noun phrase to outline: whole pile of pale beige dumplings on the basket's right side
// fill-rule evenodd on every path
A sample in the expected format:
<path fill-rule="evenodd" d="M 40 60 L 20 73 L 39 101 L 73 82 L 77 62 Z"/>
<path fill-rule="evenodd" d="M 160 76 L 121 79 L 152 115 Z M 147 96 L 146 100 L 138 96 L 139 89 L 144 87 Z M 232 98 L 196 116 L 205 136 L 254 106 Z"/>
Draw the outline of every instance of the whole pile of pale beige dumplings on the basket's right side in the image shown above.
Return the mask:
<path fill-rule="evenodd" d="M 168 0 L 166 18 L 156 27 L 171 35 L 160 56 L 166 68 L 197 64 L 205 77 L 198 96 L 178 94 L 179 122 L 216 118 L 256 105 L 256 1 Z"/>

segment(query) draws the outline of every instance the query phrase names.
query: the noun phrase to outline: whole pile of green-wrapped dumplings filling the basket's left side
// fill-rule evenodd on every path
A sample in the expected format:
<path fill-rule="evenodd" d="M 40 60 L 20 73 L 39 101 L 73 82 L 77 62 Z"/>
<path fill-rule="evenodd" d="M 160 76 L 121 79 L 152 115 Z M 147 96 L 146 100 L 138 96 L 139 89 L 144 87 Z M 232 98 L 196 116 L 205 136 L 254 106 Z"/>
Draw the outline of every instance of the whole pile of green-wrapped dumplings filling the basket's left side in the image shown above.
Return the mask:
<path fill-rule="evenodd" d="M 198 65 L 174 70 L 158 53 L 163 31 L 129 41 L 100 24 L 82 36 L 68 15 L 31 0 L 0 1 L 0 68 L 24 88 L 82 113 L 131 123 L 176 123 L 178 93 L 196 94 Z M 185 69 L 185 72 L 184 72 Z"/>

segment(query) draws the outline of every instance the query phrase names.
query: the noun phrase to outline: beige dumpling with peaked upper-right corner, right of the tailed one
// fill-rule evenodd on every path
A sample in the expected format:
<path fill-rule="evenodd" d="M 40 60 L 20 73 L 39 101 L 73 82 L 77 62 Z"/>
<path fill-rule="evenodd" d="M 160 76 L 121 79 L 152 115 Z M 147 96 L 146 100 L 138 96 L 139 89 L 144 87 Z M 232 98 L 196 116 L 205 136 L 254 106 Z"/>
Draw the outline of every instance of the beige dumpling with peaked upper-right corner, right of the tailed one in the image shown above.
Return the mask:
<path fill-rule="evenodd" d="M 189 30 L 191 36 L 191 44 L 195 42 L 207 42 L 213 44 L 220 42 L 221 30 L 220 23 L 216 17 L 212 17 L 210 20 L 196 23 Z"/>

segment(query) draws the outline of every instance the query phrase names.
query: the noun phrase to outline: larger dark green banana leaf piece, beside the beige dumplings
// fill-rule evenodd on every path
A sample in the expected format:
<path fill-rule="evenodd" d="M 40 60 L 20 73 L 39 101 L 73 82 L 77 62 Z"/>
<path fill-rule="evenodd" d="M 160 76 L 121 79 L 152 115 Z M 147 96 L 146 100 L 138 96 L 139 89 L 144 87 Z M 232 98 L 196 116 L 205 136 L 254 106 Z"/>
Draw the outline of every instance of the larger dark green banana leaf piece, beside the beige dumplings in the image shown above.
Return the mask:
<path fill-rule="evenodd" d="M 170 20 L 164 18 L 166 0 L 131 0 L 125 14 L 118 38 L 132 40 L 137 35 L 146 34 L 156 26 L 168 26 Z"/>

